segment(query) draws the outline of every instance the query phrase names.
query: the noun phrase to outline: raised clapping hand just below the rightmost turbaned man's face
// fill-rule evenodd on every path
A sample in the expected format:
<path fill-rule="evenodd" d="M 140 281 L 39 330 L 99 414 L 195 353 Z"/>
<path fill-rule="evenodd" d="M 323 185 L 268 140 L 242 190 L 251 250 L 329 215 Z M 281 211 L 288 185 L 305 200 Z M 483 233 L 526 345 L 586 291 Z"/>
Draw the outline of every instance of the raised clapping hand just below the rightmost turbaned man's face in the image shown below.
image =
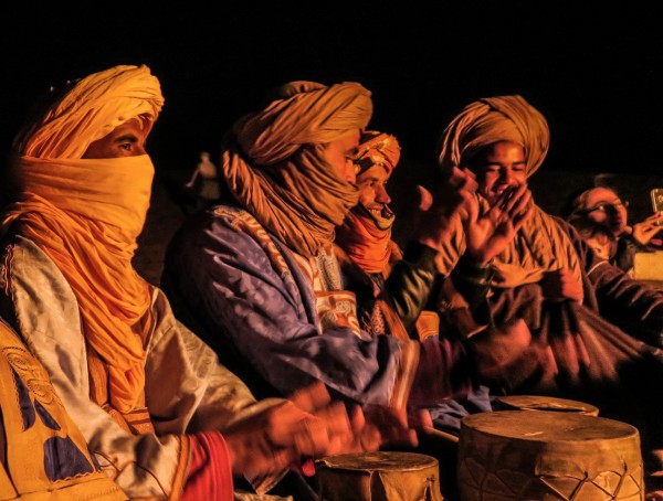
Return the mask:
<path fill-rule="evenodd" d="M 463 224 L 467 253 L 485 265 L 504 250 L 533 213 L 534 202 L 527 184 L 503 191 L 483 215 L 478 214 L 478 207 L 472 206 Z"/>

